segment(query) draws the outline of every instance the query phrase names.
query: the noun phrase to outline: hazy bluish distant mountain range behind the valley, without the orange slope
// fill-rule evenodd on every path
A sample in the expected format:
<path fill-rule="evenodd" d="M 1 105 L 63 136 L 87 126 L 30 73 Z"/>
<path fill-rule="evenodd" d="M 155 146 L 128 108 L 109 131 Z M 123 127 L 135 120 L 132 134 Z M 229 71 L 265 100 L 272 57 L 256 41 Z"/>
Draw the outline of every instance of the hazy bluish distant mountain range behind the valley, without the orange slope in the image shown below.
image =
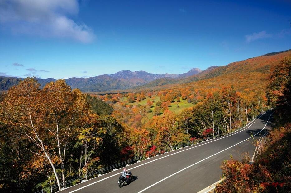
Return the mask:
<path fill-rule="evenodd" d="M 130 71 L 122 70 L 115 74 L 103 74 L 100 76 L 94 76 L 89 78 L 69 78 L 65 79 L 66 83 L 71 88 L 79 88 L 82 91 L 97 92 L 107 91 L 112 89 L 126 89 L 136 86 L 142 86 L 146 83 L 161 78 L 173 78 L 180 79 L 195 74 L 201 73 L 202 70 L 199 68 L 193 68 L 183 74 L 151 74 L 146 71 Z M 44 86 L 46 83 L 55 81 L 56 79 L 40 79 L 36 78 L 37 81 Z M 11 86 L 18 84 L 21 78 L 16 77 L 0 77 L 0 90 L 8 90 Z"/>

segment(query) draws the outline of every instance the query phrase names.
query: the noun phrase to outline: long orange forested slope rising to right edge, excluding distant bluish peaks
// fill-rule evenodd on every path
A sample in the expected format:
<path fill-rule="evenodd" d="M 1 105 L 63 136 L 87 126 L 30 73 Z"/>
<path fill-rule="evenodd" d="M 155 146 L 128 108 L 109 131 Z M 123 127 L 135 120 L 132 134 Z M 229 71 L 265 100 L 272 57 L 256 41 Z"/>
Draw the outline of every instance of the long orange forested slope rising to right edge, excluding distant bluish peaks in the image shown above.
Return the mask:
<path fill-rule="evenodd" d="M 291 50 L 273 52 L 243 61 L 232 62 L 226 66 L 212 66 L 199 74 L 184 79 L 166 79 L 168 82 L 165 79 L 157 79 L 136 89 L 150 88 L 159 90 L 163 87 L 185 88 L 189 86 L 195 89 L 209 89 L 229 85 L 234 85 L 239 90 L 245 88 L 263 89 L 266 87 L 271 68 L 279 64 L 286 56 L 291 56 Z"/>

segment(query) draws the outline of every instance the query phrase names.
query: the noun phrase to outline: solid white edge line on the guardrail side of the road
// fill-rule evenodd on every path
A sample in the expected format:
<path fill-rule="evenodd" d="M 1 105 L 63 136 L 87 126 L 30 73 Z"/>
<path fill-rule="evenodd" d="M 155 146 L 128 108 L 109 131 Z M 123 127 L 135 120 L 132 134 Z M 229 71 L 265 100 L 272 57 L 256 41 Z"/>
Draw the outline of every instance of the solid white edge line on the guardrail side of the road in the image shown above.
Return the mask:
<path fill-rule="evenodd" d="M 268 110 L 268 111 L 269 111 L 269 110 Z M 268 111 L 266 111 L 266 112 L 268 112 Z M 265 112 L 265 113 L 266 113 L 266 112 Z M 257 121 L 261 116 L 263 116 L 265 113 L 261 114 L 258 118 L 256 118 L 255 121 L 252 122 L 252 124 L 250 124 L 248 127 L 246 126 L 246 128 L 244 128 L 244 129 L 241 129 L 239 132 L 242 132 L 242 131 L 246 130 L 247 128 L 249 128 L 250 126 L 252 126 L 252 125 L 253 125 L 253 124 L 254 124 L 254 123 L 255 123 L 255 122 L 256 122 L 256 121 Z M 272 114 L 273 114 L 273 113 L 272 113 Z M 270 118 L 269 118 L 269 119 L 270 119 Z M 269 119 L 268 119 L 268 120 L 269 120 Z M 134 168 L 138 168 L 138 167 L 143 166 L 143 165 L 145 165 L 145 164 L 149 164 L 149 163 L 154 162 L 154 161 L 157 161 L 157 160 L 159 160 L 159 159 L 166 158 L 166 157 L 168 157 L 168 156 L 170 156 L 170 155 L 175 155 L 175 154 L 181 153 L 181 152 L 183 152 L 183 151 L 187 151 L 187 150 L 190 150 L 190 149 L 193 149 L 193 148 L 199 147 L 199 146 L 203 146 L 203 145 L 208 144 L 208 143 L 212 143 L 212 142 L 214 142 L 214 141 L 218 141 L 218 140 L 220 140 L 220 139 L 224 139 L 224 138 L 226 138 L 226 137 L 229 137 L 229 136 L 235 135 L 235 134 L 237 134 L 237 133 L 239 133 L 239 132 L 231 133 L 231 134 L 225 135 L 225 136 L 223 136 L 223 137 L 216 138 L 215 140 L 212 139 L 211 141 L 205 142 L 205 143 L 200 144 L 200 145 L 198 145 L 198 146 L 194 146 L 194 147 L 191 147 L 191 148 L 188 148 L 188 149 L 185 149 L 185 150 L 181 150 L 181 151 L 178 151 L 178 152 L 175 152 L 175 153 L 172 153 L 172 154 L 169 154 L 169 155 L 166 155 L 166 156 L 160 157 L 160 158 L 158 158 L 158 159 L 154 159 L 154 160 L 152 160 L 152 161 L 146 162 L 146 163 L 141 164 L 141 165 L 138 165 L 138 166 L 136 166 L 136 167 L 129 168 L 128 170 L 131 170 L 131 169 L 134 169 Z M 78 190 L 81 190 L 81 189 L 86 188 L 86 187 L 88 187 L 88 186 L 91 186 L 91 185 L 93 185 L 93 184 L 96 184 L 96 183 L 98 183 L 98 182 L 101 182 L 101 181 L 103 181 L 103 180 L 106 180 L 106 179 L 108 179 L 108 178 L 110 178 L 110 177 L 117 176 L 118 174 L 121 174 L 121 173 L 122 173 L 122 172 L 120 172 L 120 173 L 116 173 L 116 174 L 113 174 L 113 175 L 108 176 L 108 177 L 106 177 L 106 178 L 103 178 L 103 179 L 101 179 L 101 180 L 98 180 L 98 181 L 96 181 L 96 182 L 92 182 L 91 184 L 88 184 L 88 185 L 86 185 L 86 186 L 82 186 L 82 187 L 80 187 L 80 188 L 78 188 L 78 189 L 76 189 L 76 190 L 70 191 L 69 193 L 76 192 L 76 191 L 78 191 Z M 92 179 L 94 179 L 94 178 L 92 178 Z M 90 179 L 90 180 L 92 180 L 92 179 Z M 76 185 L 74 185 L 74 186 L 77 186 L 77 185 L 78 185 L 78 184 L 76 184 Z M 69 188 L 71 188 L 71 187 L 73 187 L 73 186 L 70 186 Z"/>

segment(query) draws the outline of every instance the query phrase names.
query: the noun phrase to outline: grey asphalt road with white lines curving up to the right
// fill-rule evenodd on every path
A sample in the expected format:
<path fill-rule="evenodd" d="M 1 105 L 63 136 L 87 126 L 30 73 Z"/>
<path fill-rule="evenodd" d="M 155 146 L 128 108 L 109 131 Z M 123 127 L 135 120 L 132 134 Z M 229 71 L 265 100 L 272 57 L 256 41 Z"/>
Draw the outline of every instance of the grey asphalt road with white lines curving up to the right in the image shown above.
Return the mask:
<path fill-rule="evenodd" d="M 241 159 L 244 152 L 253 155 L 254 140 L 258 140 L 272 121 L 271 111 L 260 115 L 245 128 L 226 136 L 132 164 L 127 167 L 137 179 L 127 186 L 118 187 L 122 169 L 71 186 L 61 193 L 102 192 L 198 192 L 217 182 L 222 176 L 222 161 Z M 270 118 L 270 119 L 269 119 Z M 267 123 L 269 119 L 269 122 Z M 252 137 L 253 136 L 253 137 Z"/>

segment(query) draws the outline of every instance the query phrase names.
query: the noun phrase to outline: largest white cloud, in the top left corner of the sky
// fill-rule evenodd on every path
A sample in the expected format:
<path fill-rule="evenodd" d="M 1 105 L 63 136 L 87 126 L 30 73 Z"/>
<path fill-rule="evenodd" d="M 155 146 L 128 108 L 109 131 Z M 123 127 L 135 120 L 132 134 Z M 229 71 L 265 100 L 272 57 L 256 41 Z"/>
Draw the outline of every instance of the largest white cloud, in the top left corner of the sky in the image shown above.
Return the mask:
<path fill-rule="evenodd" d="M 0 22 L 14 33 L 92 42 L 92 30 L 69 18 L 78 11 L 77 0 L 2 0 Z"/>

